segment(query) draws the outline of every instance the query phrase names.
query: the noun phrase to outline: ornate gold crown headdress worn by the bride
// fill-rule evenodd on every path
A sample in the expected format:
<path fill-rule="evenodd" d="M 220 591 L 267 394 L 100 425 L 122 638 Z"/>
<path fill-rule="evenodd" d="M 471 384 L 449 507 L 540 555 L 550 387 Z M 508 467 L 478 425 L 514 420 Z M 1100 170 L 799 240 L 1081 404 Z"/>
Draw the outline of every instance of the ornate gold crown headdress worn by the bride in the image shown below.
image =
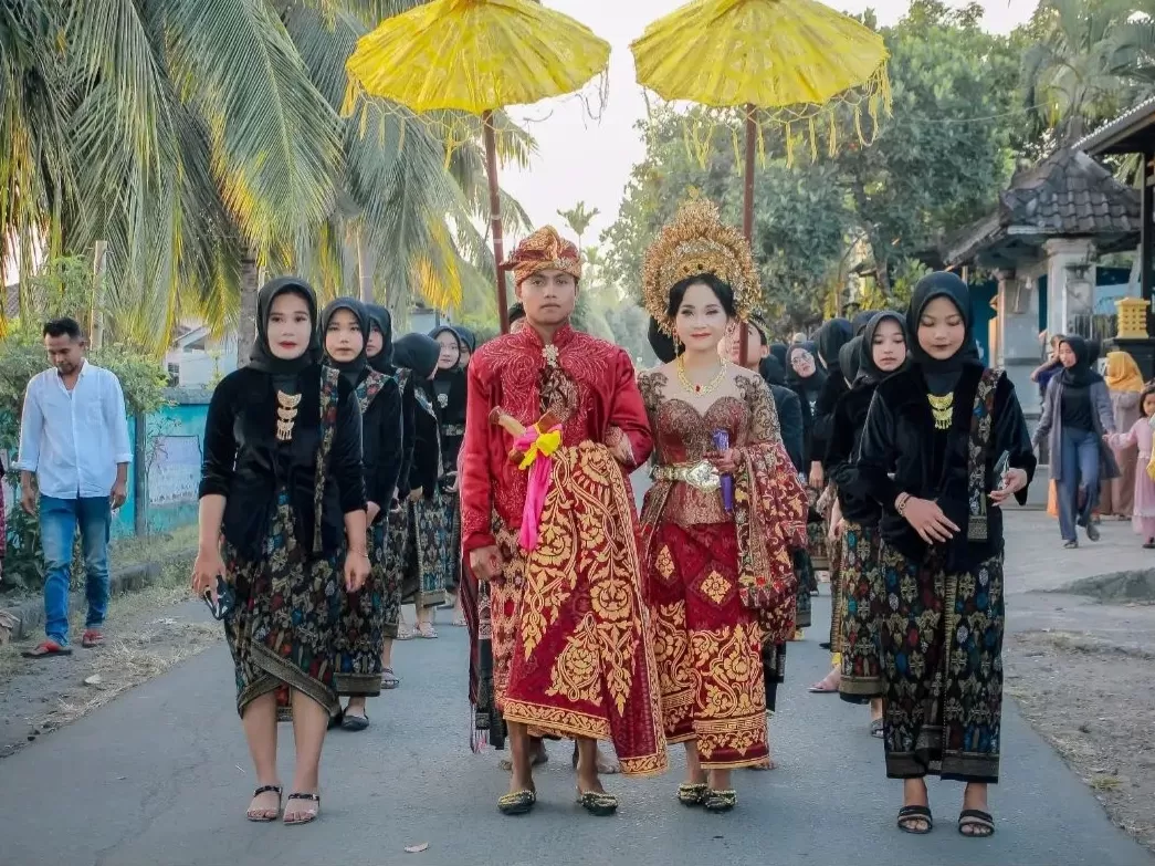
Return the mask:
<path fill-rule="evenodd" d="M 642 303 L 669 335 L 673 334 L 668 314 L 670 289 L 696 274 L 714 274 L 728 283 L 738 318 L 744 321 L 761 303 L 762 288 L 750 243 L 740 231 L 723 224 L 717 206 L 705 199 L 684 203 L 646 251 Z"/>

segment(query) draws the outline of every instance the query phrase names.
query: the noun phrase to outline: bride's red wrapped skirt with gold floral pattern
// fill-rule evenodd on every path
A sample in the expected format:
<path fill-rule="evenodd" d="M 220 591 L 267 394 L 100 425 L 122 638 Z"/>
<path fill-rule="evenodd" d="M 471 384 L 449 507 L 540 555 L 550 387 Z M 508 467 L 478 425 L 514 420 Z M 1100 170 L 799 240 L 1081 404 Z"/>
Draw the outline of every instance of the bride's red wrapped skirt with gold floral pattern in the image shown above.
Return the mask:
<path fill-rule="evenodd" d="M 735 525 L 663 523 L 650 549 L 647 600 L 666 739 L 696 740 L 707 769 L 761 763 L 762 630 L 738 598 Z"/>

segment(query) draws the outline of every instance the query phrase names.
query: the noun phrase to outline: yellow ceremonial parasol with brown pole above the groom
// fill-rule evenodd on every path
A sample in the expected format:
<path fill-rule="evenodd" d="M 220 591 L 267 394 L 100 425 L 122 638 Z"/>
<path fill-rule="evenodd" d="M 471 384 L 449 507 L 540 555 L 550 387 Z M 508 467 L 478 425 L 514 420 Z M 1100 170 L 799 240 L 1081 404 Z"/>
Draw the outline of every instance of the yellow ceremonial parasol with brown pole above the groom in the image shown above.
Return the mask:
<path fill-rule="evenodd" d="M 382 21 L 346 62 L 351 96 L 364 91 L 418 114 L 480 114 L 502 333 L 509 312 L 492 112 L 579 90 L 609 60 L 609 43 L 537 0 L 433 0 Z"/>

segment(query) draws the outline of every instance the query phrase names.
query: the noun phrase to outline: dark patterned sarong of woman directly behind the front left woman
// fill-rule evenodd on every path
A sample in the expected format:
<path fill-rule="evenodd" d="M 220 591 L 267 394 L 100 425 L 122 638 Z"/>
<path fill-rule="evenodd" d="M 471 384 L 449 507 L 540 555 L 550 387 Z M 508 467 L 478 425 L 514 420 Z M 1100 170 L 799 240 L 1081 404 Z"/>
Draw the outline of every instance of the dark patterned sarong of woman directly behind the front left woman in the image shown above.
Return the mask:
<path fill-rule="evenodd" d="M 381 694 L 381 650 L 385 647 L 385 520 L 366 532 L 370 575 L 365 585 L 343 593 L 337 631 L 338 695 Z"/>

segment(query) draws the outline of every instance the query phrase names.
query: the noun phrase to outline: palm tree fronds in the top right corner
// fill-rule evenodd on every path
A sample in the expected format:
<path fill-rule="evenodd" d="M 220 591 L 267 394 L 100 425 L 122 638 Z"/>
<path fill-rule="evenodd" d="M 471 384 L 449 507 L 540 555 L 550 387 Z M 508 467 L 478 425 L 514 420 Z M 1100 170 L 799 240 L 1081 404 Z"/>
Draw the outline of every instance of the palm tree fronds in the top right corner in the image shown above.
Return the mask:
<path fill-rule="evenodd" d="M 1026 105 L 1059 146 L 1150 92 L 1152 0 L 1043 0 L 1023 54 Z M 1152 9 L 1147 9 L 1152 12 Z"/>

